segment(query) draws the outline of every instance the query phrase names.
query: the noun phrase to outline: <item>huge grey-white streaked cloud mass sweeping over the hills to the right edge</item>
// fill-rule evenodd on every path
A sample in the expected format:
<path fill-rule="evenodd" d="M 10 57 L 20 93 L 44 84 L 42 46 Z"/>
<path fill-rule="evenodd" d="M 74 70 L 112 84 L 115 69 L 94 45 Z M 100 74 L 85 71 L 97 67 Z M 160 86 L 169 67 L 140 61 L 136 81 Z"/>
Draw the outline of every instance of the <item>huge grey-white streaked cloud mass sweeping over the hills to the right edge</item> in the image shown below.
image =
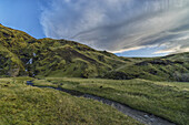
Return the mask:
<path fill-rule="evenodd" d="M 188 0 L 52 0 L 43 8 L 44 34 L 121 52 L 165 46 L 189 50 Z"/>

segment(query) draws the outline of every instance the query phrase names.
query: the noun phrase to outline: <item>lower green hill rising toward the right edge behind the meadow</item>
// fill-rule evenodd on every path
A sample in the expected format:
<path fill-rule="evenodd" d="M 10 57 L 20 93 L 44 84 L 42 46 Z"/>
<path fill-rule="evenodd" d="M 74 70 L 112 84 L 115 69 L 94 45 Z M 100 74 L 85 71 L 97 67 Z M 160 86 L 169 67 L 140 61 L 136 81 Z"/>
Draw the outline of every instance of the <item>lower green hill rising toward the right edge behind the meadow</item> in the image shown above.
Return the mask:
<path fill-rule="evenodd" d="M 105 77 L 189 82 L 189 53 L 163 58 L 136 59 L 128 65 L 108 72 Z"/>

